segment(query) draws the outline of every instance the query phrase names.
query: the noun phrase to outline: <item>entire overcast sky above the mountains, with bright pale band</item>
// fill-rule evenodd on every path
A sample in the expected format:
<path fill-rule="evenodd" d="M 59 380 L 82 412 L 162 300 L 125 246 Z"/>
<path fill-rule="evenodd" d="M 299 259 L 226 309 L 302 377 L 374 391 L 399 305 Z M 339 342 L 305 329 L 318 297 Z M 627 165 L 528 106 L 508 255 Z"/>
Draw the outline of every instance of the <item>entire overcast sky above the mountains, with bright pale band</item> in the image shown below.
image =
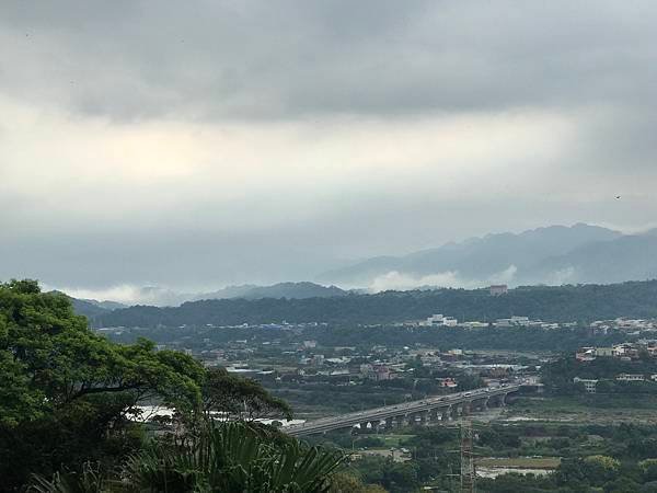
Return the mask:
<path fill-rule="evenodd" d="M 655 25 L 654 0 L 2 0 L 0 279 L 214 288 L 655 226 Z"/>

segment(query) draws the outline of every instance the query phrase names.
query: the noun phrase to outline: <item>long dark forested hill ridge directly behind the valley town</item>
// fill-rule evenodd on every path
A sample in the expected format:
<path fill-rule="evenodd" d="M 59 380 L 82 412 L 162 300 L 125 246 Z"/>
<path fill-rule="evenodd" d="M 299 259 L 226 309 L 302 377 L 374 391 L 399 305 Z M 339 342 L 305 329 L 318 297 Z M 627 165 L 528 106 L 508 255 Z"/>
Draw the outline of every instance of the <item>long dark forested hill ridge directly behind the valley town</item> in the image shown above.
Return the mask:
<path fill-rule="evenodd" d="M 92 318 L 94 326 L 235 325 L 266 322 L 387 323 L 443 313 L 460 320 L 527 316 L 544 321 L 657 317 L 657 280 L 614 285 L 387 291 L 308 299 L 221 299 L 180 307 L 136 306 Z"/>

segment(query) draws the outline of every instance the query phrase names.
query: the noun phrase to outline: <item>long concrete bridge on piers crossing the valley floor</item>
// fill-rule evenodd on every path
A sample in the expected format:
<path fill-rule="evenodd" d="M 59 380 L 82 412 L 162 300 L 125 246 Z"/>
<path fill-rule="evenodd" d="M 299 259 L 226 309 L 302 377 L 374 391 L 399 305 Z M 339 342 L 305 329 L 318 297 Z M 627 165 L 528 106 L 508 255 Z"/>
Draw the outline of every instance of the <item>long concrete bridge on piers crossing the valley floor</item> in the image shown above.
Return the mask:
<path fill-rule="evenodd" d="M 393 428 L 415 423 L 448 422 L 476 410 L 486 410 L 491 405 L 505 405 L 507 395 L 517 392 L 519 388 L 520 383 L 507 383 L 495 389 L 475 389 L 449 395 L 431 397 L 422 401 L 404 402 L 339 416 L 323 417 L 281 428 L 281 431 L 292 436 L 303 436 L 333 429 L 351 428 L 356 425 L 361 428 L 377 428 L 379 426 Z"/>

